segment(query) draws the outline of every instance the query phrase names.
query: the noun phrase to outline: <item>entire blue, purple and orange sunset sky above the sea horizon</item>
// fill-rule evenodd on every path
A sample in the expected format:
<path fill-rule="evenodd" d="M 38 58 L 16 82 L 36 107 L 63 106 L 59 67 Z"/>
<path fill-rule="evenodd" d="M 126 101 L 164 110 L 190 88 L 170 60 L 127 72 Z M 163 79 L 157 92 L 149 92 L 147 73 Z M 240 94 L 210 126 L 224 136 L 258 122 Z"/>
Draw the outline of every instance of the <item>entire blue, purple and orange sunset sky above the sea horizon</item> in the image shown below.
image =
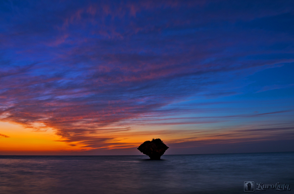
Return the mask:
<path fill-rule="evenodd" d="M 0 154 L 294 151 L 293 1 L 0 1 Z"/>

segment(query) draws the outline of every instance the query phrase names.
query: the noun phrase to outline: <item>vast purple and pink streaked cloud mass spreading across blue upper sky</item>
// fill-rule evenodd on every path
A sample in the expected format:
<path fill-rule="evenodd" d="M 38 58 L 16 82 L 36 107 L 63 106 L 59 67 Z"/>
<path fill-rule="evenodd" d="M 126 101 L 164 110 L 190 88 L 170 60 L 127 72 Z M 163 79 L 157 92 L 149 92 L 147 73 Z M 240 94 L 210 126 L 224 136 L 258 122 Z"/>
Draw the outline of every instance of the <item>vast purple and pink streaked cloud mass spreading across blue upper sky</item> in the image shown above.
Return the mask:
<path fill-rule="evenodd" d="M 288 22 L 293 2 L 267 2 L 4 4 L 0 119 L 40 132 L 49 127 L 61 141 L 104 148 L 129 146 L 113 134 L 135 124 L 215 124 L 273 114 L 182 118 L 177 114 L 223 109 L 166 108 L 191 96 L 244 93 L 248 75 L 294 62 L 292 47 L 273 49 L 293 43 L 293 28 L 269 25 Z"/>

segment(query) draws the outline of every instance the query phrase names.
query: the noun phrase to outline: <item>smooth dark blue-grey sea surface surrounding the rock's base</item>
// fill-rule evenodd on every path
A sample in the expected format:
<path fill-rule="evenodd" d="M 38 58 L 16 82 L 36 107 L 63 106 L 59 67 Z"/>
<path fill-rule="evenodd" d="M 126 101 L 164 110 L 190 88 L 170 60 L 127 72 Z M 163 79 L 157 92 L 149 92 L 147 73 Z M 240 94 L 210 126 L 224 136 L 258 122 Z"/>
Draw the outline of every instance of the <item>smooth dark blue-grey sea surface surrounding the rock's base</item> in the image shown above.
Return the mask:
<path fill-rule="evenodd" d="M 294 190 L 294 152 L 161 158 L 0 156 L 0 193 L 245 193 L 244 181 Z"/>

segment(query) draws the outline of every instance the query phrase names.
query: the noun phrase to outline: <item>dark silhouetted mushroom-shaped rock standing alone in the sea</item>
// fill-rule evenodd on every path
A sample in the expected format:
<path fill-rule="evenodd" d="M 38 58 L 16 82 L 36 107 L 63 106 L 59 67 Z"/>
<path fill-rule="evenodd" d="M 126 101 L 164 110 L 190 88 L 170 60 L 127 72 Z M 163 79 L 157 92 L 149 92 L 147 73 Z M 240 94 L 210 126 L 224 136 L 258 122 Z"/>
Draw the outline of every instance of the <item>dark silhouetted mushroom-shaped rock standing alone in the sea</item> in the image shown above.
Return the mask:
<path fill-rule="evenodd" d="M 152 139 L 152 141 L 146 141 L 137 148 L 143 154 L 150 157 L 151 160 L 159 160 L 160 156 L 168 149 L 161 139 Z"/>

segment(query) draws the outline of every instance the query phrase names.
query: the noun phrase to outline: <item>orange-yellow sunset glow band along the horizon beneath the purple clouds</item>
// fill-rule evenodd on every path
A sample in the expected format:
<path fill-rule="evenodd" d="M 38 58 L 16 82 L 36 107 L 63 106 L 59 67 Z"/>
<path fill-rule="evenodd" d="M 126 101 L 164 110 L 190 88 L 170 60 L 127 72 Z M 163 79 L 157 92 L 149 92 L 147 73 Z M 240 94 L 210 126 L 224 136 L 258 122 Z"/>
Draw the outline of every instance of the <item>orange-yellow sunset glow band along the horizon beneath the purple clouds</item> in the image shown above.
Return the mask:
<path fill-rule="evenodd" d="M 32 128 L 12 122 L 0 122 L 0 154 L 2 155 L 84 155 L 105 154 L 105 151 L 117 150 L 117 153 L 125 153 L 133 150 L 146 140 L 160 138 L 168 146 L 177 145 L 179 148 L 199 147 L 208 144 L 230 144 L 239 142 L 254 142 L 260 140 L 260 135 L 250 135 L 254 126 L 239 126 L 239 128 L 207 129 L 207 128 L 172 128 L 166 125 L 161 127 L 149 127 L 144 125 L 108 126 L 93 130 L 84 135 L 83 139 L 75 139 L 73 136 L 62 137 L 58 130 L 46 127 L 45 124 L 36 123 Z M 41 126 L 41 128 L 36 127 Z M 110 129 L 111 128 L 111 129 Z M 285 132 L 289 130 L 285 129 Z M 263 136 L 263 140 L 273 140 L 280 130 L 273 129 Z M 72 138 L 72 139 L 70 139 Z M 184 143 L 184 144 L 183 144 Z M 124 150 L 124 151 L 123 151 Z M 91 151 L 86 153 L 85 151 Z M 93 152 L 94 151 L 94 152 Z M 101 152 L 100 152 L 101 151 Z M 109 152 L 112 153 L 112 152 Z M 108 154 L 108 153 L 106 153 Z"/>

